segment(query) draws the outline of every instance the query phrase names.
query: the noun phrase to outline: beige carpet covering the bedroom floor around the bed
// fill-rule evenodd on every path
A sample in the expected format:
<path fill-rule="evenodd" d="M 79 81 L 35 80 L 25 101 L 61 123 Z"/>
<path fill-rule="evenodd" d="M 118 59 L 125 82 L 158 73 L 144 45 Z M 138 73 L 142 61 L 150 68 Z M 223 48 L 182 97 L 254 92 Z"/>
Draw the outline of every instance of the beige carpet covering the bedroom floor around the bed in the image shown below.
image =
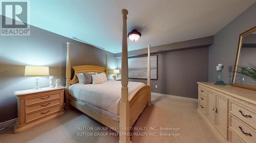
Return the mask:
<path fill-rule="evenodd" d="M 136 129 L 139 129 L 132 132 L 133 134 L 138 133 L 136 134 L 138 136 L 132 136 L 135 143 L 219 142 L 198 115 L 196 111 L 197 102 L 156 95 L 152 95 L 152 102 L 153 105 L 145 108 L 134 125 Z M 78 130 L 78 127 L 93 127 L 93 130 L 81 131 Z M 110 129 L 96 131 L 94 127 L 104 126 L 82 112 L 71 108 L 67 110 L 65 115 L 19 134 L 13 134 L 13 128 L 0 131 L 0 142 L 118 142 L 118 136 L 110 135 L 115 133 L 114 131 Z M 148 127 L 148 129 L 142 130 L 143 127 Z M 149 130 L 149 127 L 152 127 L 152 130 Z M 180 130 L 160 131 L 160 127 L 179 127 Z M 94 133 L 105 133 L 105 136 Z M 162 133 L 176 134 L 161 136 Z M 177 133 L 179 133 L 179 136 Z M 90 136 L 91 134 L 93 136 Z"/>

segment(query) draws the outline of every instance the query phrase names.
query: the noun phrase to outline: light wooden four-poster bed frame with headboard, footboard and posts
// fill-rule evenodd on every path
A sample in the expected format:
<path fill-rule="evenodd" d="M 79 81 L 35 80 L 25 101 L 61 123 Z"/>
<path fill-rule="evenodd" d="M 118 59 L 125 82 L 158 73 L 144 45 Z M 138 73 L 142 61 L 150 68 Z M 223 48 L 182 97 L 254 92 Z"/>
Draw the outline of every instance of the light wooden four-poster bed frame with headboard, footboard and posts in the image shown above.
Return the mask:
<path fill-rule="evenodd" d="M 106 72 L 108 75 L 108 54 L 106 54 L 106 67 L 84 65 L 72 67 L 75 71 L 71 79 L 70 64 L 70 43 L 67 42 L 67 67 L 66 67 L 66 106 L 72 105 L 78 110 L 86 113 L 105 126 L 119 133 L 119 142 L 132 142 L 130 138 L 130 127 L 133 126 L 146 105 L 151 105 L 151 71 L 150 71 L 150 45 L 147 46 L 147 85 L 144 85 L 131 95 L 128 95 L 128 56 L 127 56 L 127 20 L 128 11 L 122 9 L 123 34 L 122 34 L 122 70 L 121 70 L 121 100 L 119 102 L 119 122 L 98 113 L 78 101 L 70 98 L 69 87 L 71 84 L 78 83 L 76 73 L 82 72 Z"/>

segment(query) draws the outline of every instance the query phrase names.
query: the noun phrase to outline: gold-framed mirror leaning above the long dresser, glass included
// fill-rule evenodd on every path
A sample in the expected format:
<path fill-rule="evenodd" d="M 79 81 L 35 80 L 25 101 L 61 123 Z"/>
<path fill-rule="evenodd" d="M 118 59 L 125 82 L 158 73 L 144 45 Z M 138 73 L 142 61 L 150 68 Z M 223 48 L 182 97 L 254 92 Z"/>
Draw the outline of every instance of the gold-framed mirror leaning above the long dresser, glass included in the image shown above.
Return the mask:
<path fill-rule="evenodd" d="M 232 86 L 256 91 L 256 26 L 239 36 Z"/>

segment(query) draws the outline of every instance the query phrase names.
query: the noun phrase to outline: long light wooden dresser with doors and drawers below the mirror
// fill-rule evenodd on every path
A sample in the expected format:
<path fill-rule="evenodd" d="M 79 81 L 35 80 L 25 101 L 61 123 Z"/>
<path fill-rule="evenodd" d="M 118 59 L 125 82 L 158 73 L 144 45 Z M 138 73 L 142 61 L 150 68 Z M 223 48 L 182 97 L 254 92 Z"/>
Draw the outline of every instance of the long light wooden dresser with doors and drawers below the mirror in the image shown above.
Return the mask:
<path fill-rule="evenodd" d="M 198 113 L 222 142 L 256 142 L 256 91 L 198 83 Z"/>

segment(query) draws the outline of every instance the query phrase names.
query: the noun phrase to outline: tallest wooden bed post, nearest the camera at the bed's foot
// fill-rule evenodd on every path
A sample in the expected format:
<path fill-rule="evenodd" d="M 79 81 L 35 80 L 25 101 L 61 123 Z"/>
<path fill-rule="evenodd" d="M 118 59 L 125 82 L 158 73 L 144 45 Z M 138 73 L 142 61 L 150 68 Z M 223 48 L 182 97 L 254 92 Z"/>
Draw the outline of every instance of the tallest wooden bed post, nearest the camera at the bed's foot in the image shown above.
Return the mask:
<path fill-rule="evenodd" d="M 128 101 L 128 56 L 127 56 L 127 14 L 122 9 L 123 35 L 122 35 L 122 70 L 121 70 L 121 101 L 119 103 L 119 142 L 132 142 L 130 140 L 130 103 Z"/>

